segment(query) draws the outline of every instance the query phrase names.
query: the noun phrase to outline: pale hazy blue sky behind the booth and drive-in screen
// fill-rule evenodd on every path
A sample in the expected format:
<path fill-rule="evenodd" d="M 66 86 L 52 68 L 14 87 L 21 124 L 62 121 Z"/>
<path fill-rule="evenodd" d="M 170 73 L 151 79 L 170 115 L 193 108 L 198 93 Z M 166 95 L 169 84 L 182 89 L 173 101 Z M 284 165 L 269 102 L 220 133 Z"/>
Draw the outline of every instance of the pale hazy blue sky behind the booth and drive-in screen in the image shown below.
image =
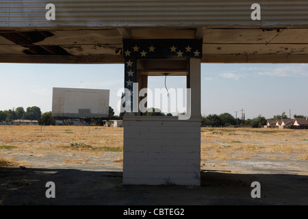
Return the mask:
<path fill-rule="evenodd" d="M 122 64 L 0 64 L 0 110 L 38 106 L 51 111 L 53 88 L 110 90 L 119 114 Z M 166 87 L 185 88 L 185 77 L 166 77 Z M 149 77 L 149 88 L 166 89 L 165 77 Z M 151 99 L 149 99 L 149 107 Z M 308 116 L 308 64 L 202 64 L 201 114 L 272 118 L 283 112 Z"/>

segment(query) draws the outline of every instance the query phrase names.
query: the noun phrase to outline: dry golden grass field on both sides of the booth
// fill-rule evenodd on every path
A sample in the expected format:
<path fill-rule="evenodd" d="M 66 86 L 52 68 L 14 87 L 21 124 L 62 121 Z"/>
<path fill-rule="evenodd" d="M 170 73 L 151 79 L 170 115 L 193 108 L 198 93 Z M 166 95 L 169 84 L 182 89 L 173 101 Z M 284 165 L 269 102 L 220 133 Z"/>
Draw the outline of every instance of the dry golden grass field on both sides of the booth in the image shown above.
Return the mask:
<path fill-rule="evenodd" d="M 10 151 L 4 154 L 3 151 Z M 2 164 L 21 162 L 18 155 L 60 154 L 66 164 L 98 164 L 123 160 L 123 128 L 75 126 L 0 126 Z M 201 128 L 201 161 L 217 159 L 308 159 L 308 130 Z M 65 158 L 66 157 L 66 158 Z M 89 162 L 89 157 L 92 161 Z M 74 159 L 72 159 L 74 158 Z M 24 162 L 25 163 L 25 162 Z"/>

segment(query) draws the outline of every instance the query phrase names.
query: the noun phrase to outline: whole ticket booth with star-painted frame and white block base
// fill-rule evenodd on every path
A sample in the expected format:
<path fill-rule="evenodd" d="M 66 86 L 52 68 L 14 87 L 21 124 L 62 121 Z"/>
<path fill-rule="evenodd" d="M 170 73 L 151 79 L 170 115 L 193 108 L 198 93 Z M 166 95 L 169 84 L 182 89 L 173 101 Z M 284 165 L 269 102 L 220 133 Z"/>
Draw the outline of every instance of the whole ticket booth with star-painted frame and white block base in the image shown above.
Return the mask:
<path fill-rule="evenodd" d="M 130 94 L 136 94 L 133 83 L 138 83 L 138 92 L 146 88 L 147 76 L 167 72 L 185 75 L 190 95 L 185 118 L 143 116 L 134 107 L 142 98 L 128 95 L 131 112 L 123 116 L 123 184 L 200 185 L 201 45 L 196 40 L 125 42 L 125 88 Z"/>

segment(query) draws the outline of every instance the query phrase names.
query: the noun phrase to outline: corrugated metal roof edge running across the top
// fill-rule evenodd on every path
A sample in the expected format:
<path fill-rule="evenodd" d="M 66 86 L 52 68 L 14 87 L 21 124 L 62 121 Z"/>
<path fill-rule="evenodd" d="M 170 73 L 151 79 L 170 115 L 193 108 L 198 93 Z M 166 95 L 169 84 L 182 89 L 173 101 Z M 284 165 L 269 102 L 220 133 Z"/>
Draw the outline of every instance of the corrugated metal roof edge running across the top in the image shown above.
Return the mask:
<path fill-rule="evenodd" d="M 55 21 L 45 6 L 55 5 Z M 259 1 L 261 21 L 251 20 L 253 2 L 237 0 L 2 0 L 0 27 L 307 26 L 308 1 Z"/>

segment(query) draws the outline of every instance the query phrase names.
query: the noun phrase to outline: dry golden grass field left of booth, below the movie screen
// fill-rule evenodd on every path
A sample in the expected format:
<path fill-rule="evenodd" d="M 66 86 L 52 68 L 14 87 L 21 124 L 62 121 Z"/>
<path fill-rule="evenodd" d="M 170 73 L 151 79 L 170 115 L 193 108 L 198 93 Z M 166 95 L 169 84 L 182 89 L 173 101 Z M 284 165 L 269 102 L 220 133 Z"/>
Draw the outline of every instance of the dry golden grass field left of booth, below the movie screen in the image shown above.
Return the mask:
<path fill-rule="evenodd" d="M 61 157 L 64 164 L 91 164 L 105 153 L 115 153 L 112 162 L 123 160 L 123 128 L 75 126 L 1 126 L 2 164 L 27 164 L 23 157 Z M 3 150 L 10 151 L 4 155 Z M 2 153 L 1 153 L 2 151 Z M 55 162 L 57 159 L 54 158 Z"/>

